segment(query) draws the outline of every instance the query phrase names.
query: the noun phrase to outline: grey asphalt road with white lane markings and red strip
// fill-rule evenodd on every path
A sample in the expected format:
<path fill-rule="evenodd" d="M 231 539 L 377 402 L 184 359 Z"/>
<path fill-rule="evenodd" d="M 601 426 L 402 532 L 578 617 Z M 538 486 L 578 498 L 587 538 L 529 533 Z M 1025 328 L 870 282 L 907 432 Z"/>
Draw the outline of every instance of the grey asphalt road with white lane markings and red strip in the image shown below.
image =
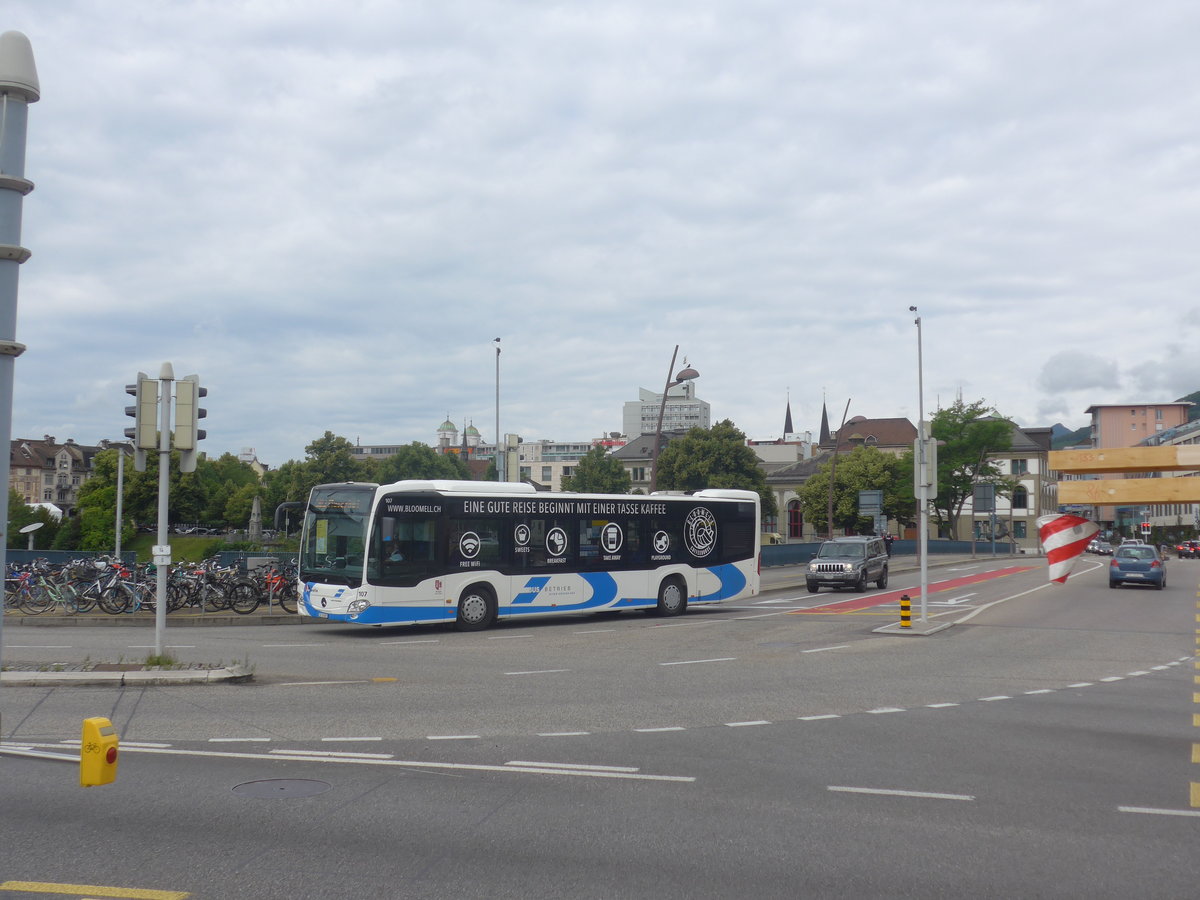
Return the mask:
<path fill-rule="evenodd" d="M 0 900 L 1189 896 L 1200 560 L 1163 592 L 1109 590 L 1103 564 L 938 570 L 931 614 L 961 624 L 930 637 L 874 631 L 900 576 L 882 606 L 169 631 L 256 680 L 0 691 L 10 745 L 61 749 L 86 715 L 122 739 L 100 788 L 0 757 Z M 5 641 L 134 658 L 146 632 Z"/>

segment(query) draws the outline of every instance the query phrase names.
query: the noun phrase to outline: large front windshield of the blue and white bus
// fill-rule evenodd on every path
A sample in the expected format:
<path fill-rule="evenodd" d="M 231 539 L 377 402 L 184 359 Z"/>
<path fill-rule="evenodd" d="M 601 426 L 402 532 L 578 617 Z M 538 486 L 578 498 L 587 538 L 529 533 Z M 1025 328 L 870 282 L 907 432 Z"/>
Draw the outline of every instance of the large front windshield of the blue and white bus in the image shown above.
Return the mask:
<path fill-rule="evenodd" d="M 300 544 L 300 580 L 362 583 L 367 520 L 376 485 L 318 485 L 308 497 Z"/>

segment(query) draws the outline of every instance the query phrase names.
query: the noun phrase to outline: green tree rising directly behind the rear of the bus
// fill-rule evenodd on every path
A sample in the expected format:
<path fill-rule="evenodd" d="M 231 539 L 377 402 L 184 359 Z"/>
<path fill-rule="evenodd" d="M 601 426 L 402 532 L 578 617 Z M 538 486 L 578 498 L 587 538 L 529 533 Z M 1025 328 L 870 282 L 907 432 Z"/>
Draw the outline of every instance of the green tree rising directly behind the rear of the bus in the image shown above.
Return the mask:
<path fill-rule="evenodd" d="M 712 428 L 692 428 L 659 454 L 658 486 L 667 491 L 701 491 L 736 487 L 756 491 L 763 517 L 776 512 L 775 497 L 758 467 L 758 457 L 746 446 L 746 436 L 728 419 Z"/>

